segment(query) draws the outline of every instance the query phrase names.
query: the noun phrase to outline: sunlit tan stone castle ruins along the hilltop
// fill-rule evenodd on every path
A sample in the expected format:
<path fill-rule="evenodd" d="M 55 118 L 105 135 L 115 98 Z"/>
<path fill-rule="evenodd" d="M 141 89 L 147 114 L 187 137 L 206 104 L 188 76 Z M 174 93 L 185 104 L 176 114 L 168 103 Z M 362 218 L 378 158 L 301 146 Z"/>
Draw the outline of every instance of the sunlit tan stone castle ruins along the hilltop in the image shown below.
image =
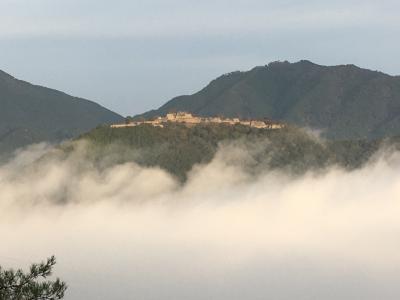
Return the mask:
<path fill-rule="evenodd" d="M 156 117 L 152 120 L 130 121 L 125 124 L 113 124 L 111 128 L 134 127 L 142 124 L 149 124 L 156 127 L 164 127 L 168 123 L 181 123 L 186 126 L 195 126 L 198 124 L 227 124 L 227 125 L 244 125 L 261 129 L 280 129 L 285 125 L 272 120 L 241 120 L 239 118 L 222 118 L 222 117 L 197 117 L 188 112 L 168 113 L 164 117 Z"/>

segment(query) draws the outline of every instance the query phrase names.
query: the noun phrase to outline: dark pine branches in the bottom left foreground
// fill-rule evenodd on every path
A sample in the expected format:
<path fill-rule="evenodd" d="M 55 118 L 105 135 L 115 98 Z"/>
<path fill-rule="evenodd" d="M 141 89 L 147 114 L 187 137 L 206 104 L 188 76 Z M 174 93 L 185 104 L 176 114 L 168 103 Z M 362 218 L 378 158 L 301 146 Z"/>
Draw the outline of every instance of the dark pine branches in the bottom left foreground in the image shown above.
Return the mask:
<path fill-rule="evenodd" d="M 46 280 L 56 264 L 54 256 L 46 262 L 33 264 L 29 272 L 22 270 L 3 270 L 0 266 L 1 300 L 56 300 L 62 299 L 67 289 L 65 282 L 56 279 Z"/>

